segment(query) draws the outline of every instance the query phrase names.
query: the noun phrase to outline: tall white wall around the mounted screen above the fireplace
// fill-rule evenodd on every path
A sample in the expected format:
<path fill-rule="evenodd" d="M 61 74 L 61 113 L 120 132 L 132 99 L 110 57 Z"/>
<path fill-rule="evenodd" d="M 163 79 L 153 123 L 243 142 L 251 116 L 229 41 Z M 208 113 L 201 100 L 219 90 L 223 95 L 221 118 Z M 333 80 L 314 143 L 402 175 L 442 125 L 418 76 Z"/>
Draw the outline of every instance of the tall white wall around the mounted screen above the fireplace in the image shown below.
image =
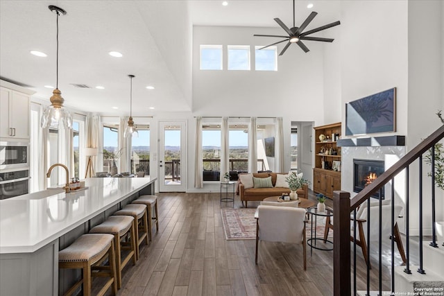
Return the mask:
<path fill-rule="evenodd" d="M 406 136 L 407 151 L 439 127 L 434 113 L 443 105 L 442 5 L 441 1 L 341 1 L 343 122 L 348 101 L 397 87 L 395 134 Z M 389 134 L 393 135 L 377 135 Z M 410 202 L 418 204 L 418 173 L 414 172 L 415 166 L 410 174 Z M 342 180 L 347 187 L 346 178 Z M 437 191 L 437 209 L 443 209 L 439 195 L 443 193 Z M 425 227 L 430 227 L 431 205 L 425 201 L 424 207 Z M 436 214 L 443 219 L 443 210 Z M 409 216 L 414 235 L 417 207 Z"/>

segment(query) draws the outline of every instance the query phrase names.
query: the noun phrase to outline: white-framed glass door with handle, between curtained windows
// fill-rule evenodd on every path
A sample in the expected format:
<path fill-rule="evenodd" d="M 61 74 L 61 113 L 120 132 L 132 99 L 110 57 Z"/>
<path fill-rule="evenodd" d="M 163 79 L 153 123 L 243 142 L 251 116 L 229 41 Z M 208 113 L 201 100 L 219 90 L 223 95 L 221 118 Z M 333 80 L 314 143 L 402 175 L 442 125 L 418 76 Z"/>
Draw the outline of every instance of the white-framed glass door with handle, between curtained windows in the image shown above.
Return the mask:
<path fill-rule="evenodd" d="M 187 124 L 159 122 L 159 191 L 187 191 Z"/>

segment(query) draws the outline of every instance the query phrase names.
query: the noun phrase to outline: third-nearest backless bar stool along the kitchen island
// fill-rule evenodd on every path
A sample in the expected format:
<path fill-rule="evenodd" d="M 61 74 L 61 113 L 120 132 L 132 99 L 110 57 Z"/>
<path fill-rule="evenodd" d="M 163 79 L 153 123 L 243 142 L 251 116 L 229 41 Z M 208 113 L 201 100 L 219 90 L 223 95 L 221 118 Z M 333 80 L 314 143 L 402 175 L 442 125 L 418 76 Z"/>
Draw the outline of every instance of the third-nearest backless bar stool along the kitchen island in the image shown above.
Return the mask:
<path fill-rule="evenodd" d="M 148 220 L 146 218 L 145 204 L 126 204 L 123 209 L 116 211 L 115 216 L 132 216 L 134 218 L 133 227 L 136 238 L 136 259 L 139 260 L 139 245 L 146 239 L 148 245 Z"/>

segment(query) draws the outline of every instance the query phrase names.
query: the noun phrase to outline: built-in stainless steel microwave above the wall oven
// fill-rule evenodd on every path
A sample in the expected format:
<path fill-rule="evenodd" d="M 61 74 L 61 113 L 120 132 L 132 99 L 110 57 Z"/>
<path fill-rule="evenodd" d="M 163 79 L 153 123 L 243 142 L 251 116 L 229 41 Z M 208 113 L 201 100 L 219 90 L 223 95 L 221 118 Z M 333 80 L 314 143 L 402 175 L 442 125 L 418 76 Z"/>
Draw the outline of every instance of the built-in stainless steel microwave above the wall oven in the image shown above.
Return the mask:
<path fill-rule="evenodd" d="M 0 142 L 0 169 L 29 166 L 29 143 Z"/>

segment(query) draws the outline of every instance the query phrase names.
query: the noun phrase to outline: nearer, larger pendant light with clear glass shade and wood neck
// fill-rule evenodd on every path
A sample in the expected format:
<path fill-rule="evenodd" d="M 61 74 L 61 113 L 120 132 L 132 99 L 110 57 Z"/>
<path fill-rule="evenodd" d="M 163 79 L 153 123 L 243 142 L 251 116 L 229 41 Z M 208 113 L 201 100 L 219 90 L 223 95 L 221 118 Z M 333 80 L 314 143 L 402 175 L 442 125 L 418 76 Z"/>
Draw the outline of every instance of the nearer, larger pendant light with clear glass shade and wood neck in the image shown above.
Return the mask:
<path fill-rule="evenodd" d="M 49 10 L 52 12 L 56 12 L 57 15 L 57 62 L 56 62 L 56 89 L 53 90 L 53 95 L 51 98 L 49 98 L 49 101 L 51 101 L 51 106 L 47 107 L 43 114 L 42 119 L 40 119 L 40 126 L 42 128 L 51 128 L 51 129 L 58 129 L 60 122 L 63 124 L 63 126 L 67 129 L 72 128 L 72 117 L 71 114 L 69 114 L 68 110 L 66 110 L 63 107 L 63 102 L 65 100 L 62 98 L 60 90 L 58 89 L 58 17 L 60 14 L 66 15 L 67 12 L 63 10 L 62 8 L 59 8 L 57 6 L 50 5 L 48 6 Z"/>

